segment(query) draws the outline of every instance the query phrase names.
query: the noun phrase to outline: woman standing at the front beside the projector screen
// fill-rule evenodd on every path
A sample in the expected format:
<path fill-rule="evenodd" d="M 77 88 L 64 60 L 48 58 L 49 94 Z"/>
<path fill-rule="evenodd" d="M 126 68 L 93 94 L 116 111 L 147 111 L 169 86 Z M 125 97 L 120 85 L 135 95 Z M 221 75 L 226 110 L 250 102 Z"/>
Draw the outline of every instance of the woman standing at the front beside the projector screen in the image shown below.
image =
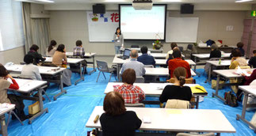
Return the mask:
<path fill-rule="evenodd" d="M 120 54 L 120 47 L 124 47 L 124 35 L 122 35 L 120 28 L 117 28 L 113 42 L 115 44 L 116 54 Z"/>

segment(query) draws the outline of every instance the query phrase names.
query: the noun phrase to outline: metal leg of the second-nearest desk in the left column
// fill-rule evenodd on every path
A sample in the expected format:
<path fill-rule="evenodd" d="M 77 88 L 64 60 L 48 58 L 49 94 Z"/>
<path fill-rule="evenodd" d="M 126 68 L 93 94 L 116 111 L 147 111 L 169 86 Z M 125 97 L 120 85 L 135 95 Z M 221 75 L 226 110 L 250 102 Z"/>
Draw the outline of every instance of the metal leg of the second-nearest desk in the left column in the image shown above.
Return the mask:
<path fill-rule="evenodd" d="M 33 115 L 31 118 L 29 118 L 29 124 L 32 123 L 32 120 L 36 119 L 38 116 L 44 114 L 44 111 L 48 113 L 48 108 L 44 108 L 44 102 L 43 102 L 43 96 L 42 96 L 43 89 L 38 90 L 39 95 L 39 106 L 40 106 L 40 112 L 36 113 L 36 115 Z"/>

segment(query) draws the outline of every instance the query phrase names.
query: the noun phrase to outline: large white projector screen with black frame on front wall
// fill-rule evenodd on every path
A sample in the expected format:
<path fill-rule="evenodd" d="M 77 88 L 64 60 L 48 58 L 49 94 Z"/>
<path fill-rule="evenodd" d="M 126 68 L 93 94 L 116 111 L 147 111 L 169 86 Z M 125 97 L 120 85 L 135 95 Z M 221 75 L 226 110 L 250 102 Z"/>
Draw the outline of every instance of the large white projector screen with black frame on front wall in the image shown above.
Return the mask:
<path fill-rule="evenodd" d="M 120 5 L 120 29 L 125 40 L 164 40 L 166 5 L 133 9 Z"/>

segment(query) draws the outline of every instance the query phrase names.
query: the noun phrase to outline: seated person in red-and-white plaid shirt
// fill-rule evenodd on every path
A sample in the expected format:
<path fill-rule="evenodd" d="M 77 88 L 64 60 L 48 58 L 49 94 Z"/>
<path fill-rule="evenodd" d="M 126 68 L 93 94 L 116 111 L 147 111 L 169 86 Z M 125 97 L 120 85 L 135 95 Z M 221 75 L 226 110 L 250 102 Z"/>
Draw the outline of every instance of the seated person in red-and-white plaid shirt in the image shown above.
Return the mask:
<path fill-rule="evenodd" d="M 145 94 L 139 86 L 133 85 L 136 81 L 136 72 L 132 69 L 124 70 L 122 74 L 123 85 L 114 86 L 114 91 L 123 96 L 125 104 L 141 103 L 145 99 Z"/>

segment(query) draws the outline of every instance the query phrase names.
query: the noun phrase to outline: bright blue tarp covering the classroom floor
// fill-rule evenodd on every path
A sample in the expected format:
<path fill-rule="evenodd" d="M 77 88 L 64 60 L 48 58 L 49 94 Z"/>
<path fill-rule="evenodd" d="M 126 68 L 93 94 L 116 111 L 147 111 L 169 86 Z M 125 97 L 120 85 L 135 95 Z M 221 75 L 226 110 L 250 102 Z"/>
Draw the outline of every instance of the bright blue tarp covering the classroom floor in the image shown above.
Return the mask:
<path fill-rule="evenodd" d="M 91 69 L 88 69 L 90 71 Z M 197 70 L 203 74 L 204 70 Z M 17 120 L 11 121 L 8 127 L 8 134 L 10 136 L 25 135 L 25 136 L 63 136 L 63 135 L 86 135 L 90 128 L 86 128 L 86 122 L 90 117 L 91 112 L 95 106 L 102 105 L 104 100 L 104 90 L 109 81 L 109 74 L 106 74 L 107 79 L 103 77 L 99 78 L 96 82 L 98 71 L 92 75 L 86 74 L 85 81 L 81 81 L 78 85 L 74 85 L 76 79 L 79 78 L 79 74 L 72 75 L 72 85 L 66 87 L 67 94 L 59 96 L 59 98 L 53 101 L 53 96 L 59 93 L 59 89 L 55 84 L 47 90 L 48 96 L 52 100 L 49 102 L 44 100 L 44 108 L 48 108 L 48 113 L 41 115 L 35 119 L 32 124 L 26 120 L 24 126 L 21 126 Z M 215 90 L 211 89 L 211 85 L 204 83 L 206 75 L 201 77 L 194 77 L 197 84 L 203 85 L 208 91 L 208 96 L 204 97 L 204 101 L 199 104 L 200 109 L 220 109 L 227 117 L 229 122 L 235 127 L 235 134 L 221 134 L 221 135 L 255 135 L 253 130 L 243 123 L 236 120 L 236 114 L 241 115 L 242 104 L 239 103 L 239 107 L 231 108 L 225 105 L 222 101 L 212 98 L 212 93 Z M 164 80 L 164 79 L 162 79 Z M 112 77 L 112 81 L 115 78 Z M 220 96 L 224 96 L 224 92 L 231 90 L 229 87 L 225 87 L 220 90 Z M 147 98 L 157 99 L 157 98 Z M 32 101 L 25 100 L 25 112 L 28 112 L 28 106 L 32 104 Z M 158 105 L 146 105 L 146 107 L 159 108 Z M 255 111 L 246 111 L 246 119 L 250 120 Z"/>

